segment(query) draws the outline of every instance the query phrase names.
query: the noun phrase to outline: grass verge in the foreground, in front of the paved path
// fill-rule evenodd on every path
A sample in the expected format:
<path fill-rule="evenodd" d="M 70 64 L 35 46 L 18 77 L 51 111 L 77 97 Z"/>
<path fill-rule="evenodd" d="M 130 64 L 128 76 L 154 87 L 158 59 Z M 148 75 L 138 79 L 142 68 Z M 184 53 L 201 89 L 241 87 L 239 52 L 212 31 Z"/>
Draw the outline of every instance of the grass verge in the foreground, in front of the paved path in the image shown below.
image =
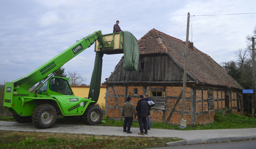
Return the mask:
<path fill-rule="evenodd" d="M 67 133 L 38 133 L 0 130 L 0 148 L 12 149 L 138 149 L 167 146 L 178 138 L 115 137 Z"/>

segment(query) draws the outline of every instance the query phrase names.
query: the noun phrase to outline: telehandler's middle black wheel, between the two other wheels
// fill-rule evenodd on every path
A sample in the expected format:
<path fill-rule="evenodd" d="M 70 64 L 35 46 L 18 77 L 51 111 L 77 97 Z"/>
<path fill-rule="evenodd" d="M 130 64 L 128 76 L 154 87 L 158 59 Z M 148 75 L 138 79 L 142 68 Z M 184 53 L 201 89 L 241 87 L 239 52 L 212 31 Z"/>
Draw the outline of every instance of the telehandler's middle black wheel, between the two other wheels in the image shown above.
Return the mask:
<path fill-rule="evenodd" d="M 56 109 L 50 104 L 41 104 L 34 110 L 32 120 L 39 129 L 47 129 L 53 126 L 57 118 Z"/>

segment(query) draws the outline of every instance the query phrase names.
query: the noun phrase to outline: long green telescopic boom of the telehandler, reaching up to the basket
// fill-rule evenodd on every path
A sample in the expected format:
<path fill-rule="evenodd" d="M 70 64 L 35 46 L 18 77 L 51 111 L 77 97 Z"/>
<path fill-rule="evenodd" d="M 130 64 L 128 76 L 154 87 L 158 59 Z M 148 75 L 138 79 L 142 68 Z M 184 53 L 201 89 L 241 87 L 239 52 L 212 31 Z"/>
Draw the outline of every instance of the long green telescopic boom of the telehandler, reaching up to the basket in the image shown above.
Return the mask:
<path fill-rule="evenodd" d="M 53 57 L 25 77 L 21 77 L 12 82 L 16 83 L 16 85 L 19 85 L 19 87 L 22 87 L 25 90 L 30 89 L 37 82 L 46 78 L 50 73 L 59 69 L 69 60 L 77 56 L 86 48 L 90 47 L 97 39 L 98 42 L 101 43 L 101 47 L 111 47 L 111 45 L 109 45 L 108 42 L 105 40 L 101 31 L 95 31 L 93 34 L 88 35 L 87 37 L 84 37 L 80 41 L 76 42 L 71 47 L 67 48 L 57 56 Z"/>

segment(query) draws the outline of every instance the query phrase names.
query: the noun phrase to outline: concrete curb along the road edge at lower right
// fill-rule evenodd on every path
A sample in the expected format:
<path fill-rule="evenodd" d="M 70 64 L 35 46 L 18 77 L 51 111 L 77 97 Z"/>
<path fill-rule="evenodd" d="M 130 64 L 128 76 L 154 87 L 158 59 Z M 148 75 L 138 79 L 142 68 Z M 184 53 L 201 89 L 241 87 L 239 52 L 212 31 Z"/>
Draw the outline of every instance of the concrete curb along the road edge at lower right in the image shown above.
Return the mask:
<path fill-rule="evenodd" d="M 210 139 L 194 139 L 194 140 L 181 140 L 176 142 L 168 142 L 167 146 L 178 146 L 178 145 L 194 145 L 200 143 L 213 143 L 213 142 L 226 142 L 226 141 L 238 141 L 254 139 L 256 136 L 244 136 L 244 137 L 219 137 Z"/>

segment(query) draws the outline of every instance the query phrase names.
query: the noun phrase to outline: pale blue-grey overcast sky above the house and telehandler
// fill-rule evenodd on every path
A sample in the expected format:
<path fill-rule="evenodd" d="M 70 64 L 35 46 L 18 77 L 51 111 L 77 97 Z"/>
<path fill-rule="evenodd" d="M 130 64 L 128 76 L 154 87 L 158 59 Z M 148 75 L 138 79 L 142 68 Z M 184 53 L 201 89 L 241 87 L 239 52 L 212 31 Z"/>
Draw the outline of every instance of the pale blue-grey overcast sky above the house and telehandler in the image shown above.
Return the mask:
<path fill-rule="evenodd" d="M 222 15 L 256 13 L 256 0 L 1 0 L 0 82 L 24 77 L 94 31 L 112 33 L 116 20 L 137 39 L 155 28 L 186 41 L 188 12 L 195 15 L 189 41 L 217 63 L 236 60 L 234 52 L 246 48 L 256 26 L 256 14 Z M 122 56 L 104 54 L 101 82 Z M 64 67 L 89 84 L 94 60 L 92 45 Z"/>

